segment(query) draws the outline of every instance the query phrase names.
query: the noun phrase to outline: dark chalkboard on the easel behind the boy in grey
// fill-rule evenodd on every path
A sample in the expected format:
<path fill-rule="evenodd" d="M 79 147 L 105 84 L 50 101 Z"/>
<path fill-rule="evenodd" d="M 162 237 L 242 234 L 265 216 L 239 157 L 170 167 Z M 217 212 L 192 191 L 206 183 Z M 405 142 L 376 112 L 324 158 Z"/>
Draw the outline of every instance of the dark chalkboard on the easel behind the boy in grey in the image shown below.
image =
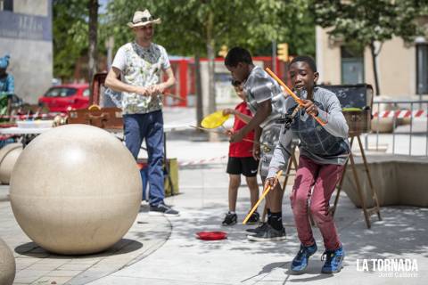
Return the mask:
<path fill-rule="evenodd" d="M 357 85 L 318 85 L 336 94 L 342 108 L 372 108 L 373 87 L 368 84 Z"/>

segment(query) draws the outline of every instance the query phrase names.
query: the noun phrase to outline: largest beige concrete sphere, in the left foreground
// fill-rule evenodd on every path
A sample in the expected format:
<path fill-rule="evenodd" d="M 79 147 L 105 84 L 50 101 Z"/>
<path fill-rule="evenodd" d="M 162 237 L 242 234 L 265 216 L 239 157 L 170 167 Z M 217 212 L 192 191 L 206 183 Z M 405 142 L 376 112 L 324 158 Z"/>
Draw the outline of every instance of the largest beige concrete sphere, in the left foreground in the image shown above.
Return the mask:
<path fill-rule="evenodd" d="M 22 151 L 11 203 L 22 230 L 49 251 L 78 255 L 111 247 L 128 232 L 142 183 L 128 149 L 101 128 L 58 126 Z"/>

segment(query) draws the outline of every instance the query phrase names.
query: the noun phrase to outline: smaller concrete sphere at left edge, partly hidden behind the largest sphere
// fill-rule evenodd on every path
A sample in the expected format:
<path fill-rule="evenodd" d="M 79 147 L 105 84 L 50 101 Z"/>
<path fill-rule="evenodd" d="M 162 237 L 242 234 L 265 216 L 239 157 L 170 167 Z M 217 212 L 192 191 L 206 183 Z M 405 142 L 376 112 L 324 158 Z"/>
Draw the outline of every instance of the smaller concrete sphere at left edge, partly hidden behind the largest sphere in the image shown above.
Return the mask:
<path fill-rule="evenodd" d="M 22 152 L 22 143 L 9 143 L 0 150 L 0 182 L 9 184 L 13 166 Z"/>

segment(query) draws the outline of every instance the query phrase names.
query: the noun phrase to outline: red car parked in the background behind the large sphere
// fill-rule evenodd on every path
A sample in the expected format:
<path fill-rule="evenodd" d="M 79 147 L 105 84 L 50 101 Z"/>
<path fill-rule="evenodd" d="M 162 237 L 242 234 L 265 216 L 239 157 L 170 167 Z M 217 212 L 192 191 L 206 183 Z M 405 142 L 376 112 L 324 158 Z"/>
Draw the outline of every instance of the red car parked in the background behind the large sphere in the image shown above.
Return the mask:
<path fill-rule="evenodd" d="M 38 99 L 51 112 L 67 112 L 67 110 L 85 109 L 89 106 L 88 84 L 56 85 Z"/>

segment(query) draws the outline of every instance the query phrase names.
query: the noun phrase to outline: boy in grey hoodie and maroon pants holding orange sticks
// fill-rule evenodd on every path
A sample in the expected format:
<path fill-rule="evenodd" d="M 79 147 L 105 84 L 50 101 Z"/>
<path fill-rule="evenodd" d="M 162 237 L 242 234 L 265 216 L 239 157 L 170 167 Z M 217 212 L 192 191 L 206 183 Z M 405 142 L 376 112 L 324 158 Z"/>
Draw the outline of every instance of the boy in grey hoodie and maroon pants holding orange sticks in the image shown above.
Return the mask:
<path fill-rule="evenodd" d="M 309 210 L 323 236 L 326 256 L 322 273 L 338 273 L 342 268 L 344 251 L 339 240 L 329 200 L 350 154 L 348 125 L 342 114 L 341 103 L 332 92 L 316 86 L 317 66 L 309 56 L 297 56 L 290 65 L 292 87 L 300 94 L 303 106 L 294 112 L 290 129 L 281 132 L 269 164 L 265 186 L 275 186 L 275 175 L 284 169 L 291 156 L 292 137 L 300 140 L 300 159 L 292 188 L 292 213 L 296 224 L 300 250 L 292 260 L 293 272 L 306 269 L 309 256 L 317 251 L 317 244 L 309 224 Z M 292 97 L 285 102 L 287 114 L 298 104 Z M 320 118 L 322 126 L 314 118 Z M 310 198 L 310 204 L 309 204 Z"/>

